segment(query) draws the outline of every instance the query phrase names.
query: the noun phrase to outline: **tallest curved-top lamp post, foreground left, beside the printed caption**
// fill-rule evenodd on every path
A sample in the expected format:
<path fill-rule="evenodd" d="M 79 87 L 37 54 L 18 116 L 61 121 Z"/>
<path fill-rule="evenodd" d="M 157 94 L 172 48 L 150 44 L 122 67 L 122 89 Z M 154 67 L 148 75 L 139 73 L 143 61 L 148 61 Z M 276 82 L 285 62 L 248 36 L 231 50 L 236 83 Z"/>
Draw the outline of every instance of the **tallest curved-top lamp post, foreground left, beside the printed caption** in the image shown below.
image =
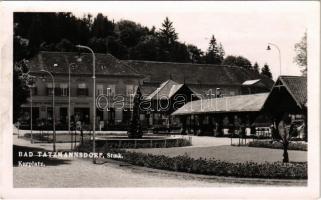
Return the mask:
<path fill-rule="evenodd" d="M 93 123 L 93 153 L 95 153 L 96 150 L 96 144 L 95 144 L 95 129 L 96 129 L 96 77 L 95 77 L 95 53 L 94 51 L 88 47 L 88 46 L 83 46 L 83 45 L 76 45 L 76 47 L 78 48 L 82 48 L 82 49 L 87 49 L 91 52 L 92 57 L 93 57 L 93 99 L 92 99 L 92 109 L 93 109 L 93 119 L 92 119 L 92 123 Z M 96 159 L 95 156 L 93 156 L 93 163 L 96 163 Z"/>

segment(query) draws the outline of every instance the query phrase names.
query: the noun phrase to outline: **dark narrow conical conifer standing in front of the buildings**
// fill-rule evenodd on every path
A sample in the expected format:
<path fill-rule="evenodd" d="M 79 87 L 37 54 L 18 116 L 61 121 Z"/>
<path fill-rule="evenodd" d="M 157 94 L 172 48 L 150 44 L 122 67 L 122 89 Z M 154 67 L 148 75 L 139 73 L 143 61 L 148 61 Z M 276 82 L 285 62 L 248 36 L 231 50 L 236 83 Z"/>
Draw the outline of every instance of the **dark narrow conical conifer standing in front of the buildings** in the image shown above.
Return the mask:
<path fill-rule="evenodd" d="M 142 93 L 140 92 L 140 87 L 136 89 L 134 96 L 133 112 L 131 115 L 129 130 L 127 132 L 128 138 L 142 138 L 143 131 L 140 123 L 140 103 L 141 103 Z"/>

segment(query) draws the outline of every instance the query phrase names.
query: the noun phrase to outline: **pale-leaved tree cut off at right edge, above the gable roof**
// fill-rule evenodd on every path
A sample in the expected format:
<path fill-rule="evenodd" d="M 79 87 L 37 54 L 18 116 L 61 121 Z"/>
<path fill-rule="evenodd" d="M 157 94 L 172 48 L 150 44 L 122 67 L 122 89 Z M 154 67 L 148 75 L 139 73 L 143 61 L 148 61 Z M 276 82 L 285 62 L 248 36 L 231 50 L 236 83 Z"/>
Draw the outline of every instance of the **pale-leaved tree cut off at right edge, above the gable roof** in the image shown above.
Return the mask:
<path fill-rule="evenodd" d="M 301 41 L 294 45 L 296 56 L 294 62 L 296 62 L 301 68 L 303 76 L 307 75 L 307 33 L 301 38 Z"/>

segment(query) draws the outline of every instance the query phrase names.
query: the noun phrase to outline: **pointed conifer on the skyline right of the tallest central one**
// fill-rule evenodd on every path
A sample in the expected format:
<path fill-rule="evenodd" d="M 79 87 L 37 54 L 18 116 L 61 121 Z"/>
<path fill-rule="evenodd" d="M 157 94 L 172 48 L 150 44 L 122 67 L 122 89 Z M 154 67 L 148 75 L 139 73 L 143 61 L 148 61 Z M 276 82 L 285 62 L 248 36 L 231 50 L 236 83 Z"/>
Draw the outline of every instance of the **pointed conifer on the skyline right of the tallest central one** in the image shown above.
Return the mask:
<path fill-rule="evenodd" d="M 205 54 L 205 62 L 208 64 L 221 64 L 224 59 L 224 49 L 218 45 L 215 36 L 212 35 L 208 50 Z"/>

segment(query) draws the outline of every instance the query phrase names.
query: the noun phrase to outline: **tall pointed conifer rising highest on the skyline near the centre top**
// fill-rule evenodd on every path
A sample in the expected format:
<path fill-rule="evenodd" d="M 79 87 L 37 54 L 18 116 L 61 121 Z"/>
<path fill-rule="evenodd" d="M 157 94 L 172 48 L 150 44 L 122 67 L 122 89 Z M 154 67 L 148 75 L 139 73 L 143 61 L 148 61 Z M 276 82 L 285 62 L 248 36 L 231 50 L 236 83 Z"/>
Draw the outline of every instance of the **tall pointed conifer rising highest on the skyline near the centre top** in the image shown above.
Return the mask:
<path fill-rule="evenodd" d="M 159 38 L 165 47 L 173 45 L 178 39 L 178 34 L 173 27 L 173 22 L 169 21 L 168 17 L 166 17 L 162 23 L 162 28 L 159 32 Z"/>

